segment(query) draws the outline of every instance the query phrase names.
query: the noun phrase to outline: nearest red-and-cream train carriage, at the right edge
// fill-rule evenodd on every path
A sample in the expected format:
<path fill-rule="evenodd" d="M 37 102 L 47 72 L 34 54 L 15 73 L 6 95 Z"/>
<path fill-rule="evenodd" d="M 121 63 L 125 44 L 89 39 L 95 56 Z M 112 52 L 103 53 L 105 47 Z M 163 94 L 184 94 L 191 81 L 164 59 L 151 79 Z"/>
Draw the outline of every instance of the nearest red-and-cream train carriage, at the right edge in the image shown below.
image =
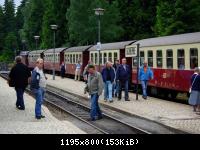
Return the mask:
<path fill-rule="evenodd" d="M 140 65 L 146 60 L 152 67 L 154 79 L 150 91 L 176 97 L 188 92 L 194 67 L 200 66 L 200 32 L 150 38 L 137 41 L 126 50 L 140 44 Z M 126 55 L 128 57 L 128 55 Z M 137 58 L 132 58 L 132 83 L 136 84 Z"/>

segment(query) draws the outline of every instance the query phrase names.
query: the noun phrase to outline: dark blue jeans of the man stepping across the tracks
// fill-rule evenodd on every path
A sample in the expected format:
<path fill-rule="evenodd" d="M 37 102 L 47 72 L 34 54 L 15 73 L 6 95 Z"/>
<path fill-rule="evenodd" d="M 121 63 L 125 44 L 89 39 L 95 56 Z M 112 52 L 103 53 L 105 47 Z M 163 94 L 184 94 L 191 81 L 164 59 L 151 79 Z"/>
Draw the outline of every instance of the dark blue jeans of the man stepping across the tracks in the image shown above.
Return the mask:
<path fill-rule="evenodd" d="M 99 95 L 98 93 L 91 94 L 91 111 L 90 111 L 90 117 L 91 119 L 95 120 L 95 117 L 102 117 L 101 110 L 99 108 L 98 103 Z"/>

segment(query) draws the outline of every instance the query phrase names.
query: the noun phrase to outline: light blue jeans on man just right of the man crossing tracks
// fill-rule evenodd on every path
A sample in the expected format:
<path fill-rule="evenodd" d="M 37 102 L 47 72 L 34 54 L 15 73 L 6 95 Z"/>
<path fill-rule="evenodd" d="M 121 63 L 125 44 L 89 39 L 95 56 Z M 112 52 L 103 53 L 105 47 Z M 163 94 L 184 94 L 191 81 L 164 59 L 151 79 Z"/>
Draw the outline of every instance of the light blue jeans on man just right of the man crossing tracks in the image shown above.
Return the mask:
<path fill-rule="evenodd" d="M 112 88 L 113 85 L 111 83 L 111 81 L 106 81 L 104 82 L 104 99 L 105 100 L 112 100 Z"/>

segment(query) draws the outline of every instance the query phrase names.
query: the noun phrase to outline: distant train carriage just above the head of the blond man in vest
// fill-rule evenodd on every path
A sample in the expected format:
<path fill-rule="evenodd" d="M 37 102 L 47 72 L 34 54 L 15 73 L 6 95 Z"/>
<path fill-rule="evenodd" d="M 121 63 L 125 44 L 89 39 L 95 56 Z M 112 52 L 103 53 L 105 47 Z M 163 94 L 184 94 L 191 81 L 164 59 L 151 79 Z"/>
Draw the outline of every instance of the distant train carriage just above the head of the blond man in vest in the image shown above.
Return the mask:
<path fill-rule="evenodd" d="M 38 58 L 44 58 L 44 51 L 45 50 L 35 50 L 35 51 L 30 51 L 28 54 L 28 67 L 30 69 L 33 69 L 36 64 L 36 60 Z"/>

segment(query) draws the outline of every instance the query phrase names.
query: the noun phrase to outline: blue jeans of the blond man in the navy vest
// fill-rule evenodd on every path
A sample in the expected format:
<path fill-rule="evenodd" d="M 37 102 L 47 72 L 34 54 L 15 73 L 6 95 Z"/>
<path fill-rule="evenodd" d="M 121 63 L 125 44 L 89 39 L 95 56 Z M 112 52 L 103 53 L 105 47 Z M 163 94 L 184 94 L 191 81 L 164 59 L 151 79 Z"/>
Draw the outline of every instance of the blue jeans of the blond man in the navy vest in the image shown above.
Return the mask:
<path fill-rule="evenodd" d="M 41 107 L 42 107 L 42 103 L 44 100 L 44 93 L 45 93 L 45 89 L 44 88 L 39 88 L 37 90 L 34 90 L 34 94 L 35 94 L 35 116 L 41 116 L 42 115 L 42 111 L 41 111 Z"/>

